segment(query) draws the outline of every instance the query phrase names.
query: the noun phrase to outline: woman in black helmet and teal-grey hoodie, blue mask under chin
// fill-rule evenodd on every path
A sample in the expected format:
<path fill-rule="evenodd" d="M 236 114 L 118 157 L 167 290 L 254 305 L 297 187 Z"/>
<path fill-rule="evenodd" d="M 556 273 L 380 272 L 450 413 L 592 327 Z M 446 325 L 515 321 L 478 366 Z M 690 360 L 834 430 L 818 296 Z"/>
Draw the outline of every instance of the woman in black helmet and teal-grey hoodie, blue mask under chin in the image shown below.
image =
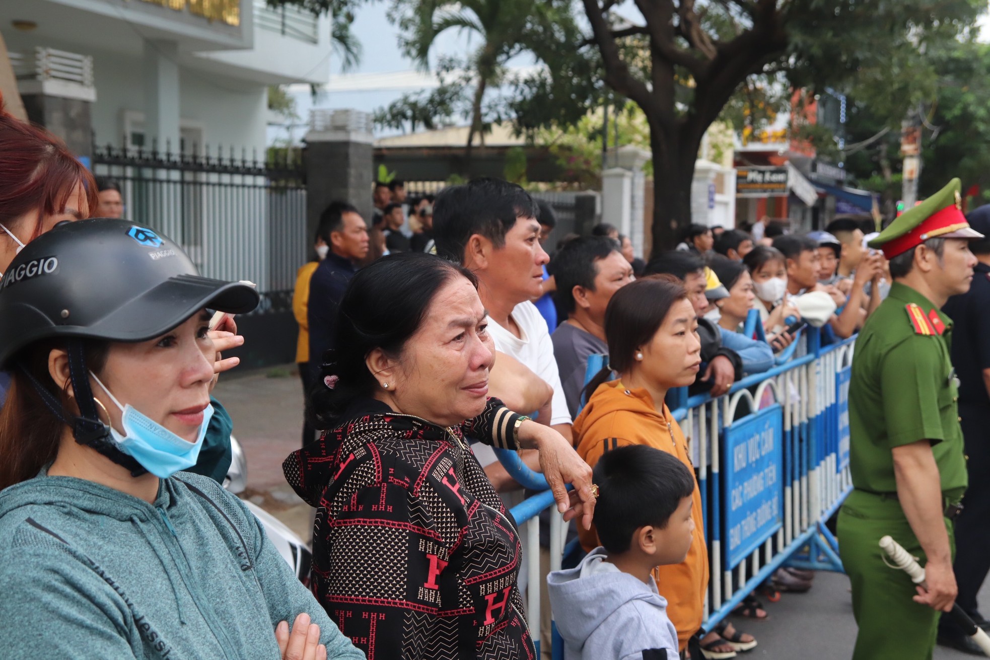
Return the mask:
<path fill-rule="evenodd" d="M 58 226 L 11 263 L 5 658 L 363 658 L 247 508 L 182 472 L 212 415 L 206 308 L 245 313 L 257 299 L 126 221 Z"/>

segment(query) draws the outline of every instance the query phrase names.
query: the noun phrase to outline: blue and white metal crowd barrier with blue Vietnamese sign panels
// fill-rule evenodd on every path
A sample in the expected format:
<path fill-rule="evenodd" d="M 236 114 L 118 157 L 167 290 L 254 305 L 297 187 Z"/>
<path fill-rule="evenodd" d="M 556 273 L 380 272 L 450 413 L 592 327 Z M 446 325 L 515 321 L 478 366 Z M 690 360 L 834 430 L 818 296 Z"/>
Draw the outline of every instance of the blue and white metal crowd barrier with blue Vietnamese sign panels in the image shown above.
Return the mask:
<path fill-rule="evenodd" d="M 701 490 L 711 572 L 707 629 L 784 564 L 842 570 L 838 543 L 825 522 L 851 483 L 848 382 L 855 337 L 828 346 L 821 341 L 820 330 L 805 330 L 787 349 L 786 362 L 743 378 L 717 399 L 688 397 L 686 388 L 668 393 Z M 591 356 L 586 380 L 606 360 Z M 560 567 L 566 528 L 543 475 L 516 452 L 498 456 L 523 486 L 544 491 L 512 509 L 526 530 L 528 614 L 539 651 L 540 592 L 546 588 L 539 571 L 540 513 L 552 512 L 550 570 Z M 554 658 L 563 657 L 560 647 L 553 644 Z"/>

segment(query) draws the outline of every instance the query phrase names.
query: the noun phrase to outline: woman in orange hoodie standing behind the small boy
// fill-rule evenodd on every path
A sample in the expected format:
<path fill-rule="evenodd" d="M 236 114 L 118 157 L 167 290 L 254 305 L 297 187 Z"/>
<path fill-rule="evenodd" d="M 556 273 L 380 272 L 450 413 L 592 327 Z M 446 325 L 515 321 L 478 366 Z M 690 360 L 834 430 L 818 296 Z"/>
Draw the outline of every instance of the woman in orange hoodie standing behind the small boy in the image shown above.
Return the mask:
<path fill-rule="evenodd" d="M 667 390 L 690 385 L 698 374 L 697 327 L 683 283 L 670 275 L 637 280 L 612 297 L 605 313 L 609 364 L 588 383 L 585 392 L 593 394 L 574 421 L 577 452 L 589 465 L 609 449 L 645 444 L 673 454 L 693 471 L 684 433 L 663 400 Z M 609 381 L 613 370 L 619 378 Z M 693 499 L 694 541 L 687 557 L 653 570 L 681 651 L 701 628 L 709 578 L 697 483 Z M 578 529 L 578 535 L 585 551 L 599 545 L 594 528 Z M 732 658 L 755 645 L 750 635 L 730 626 L 722 634 L 709 633 L 701 649 L 705 658 Z"/>

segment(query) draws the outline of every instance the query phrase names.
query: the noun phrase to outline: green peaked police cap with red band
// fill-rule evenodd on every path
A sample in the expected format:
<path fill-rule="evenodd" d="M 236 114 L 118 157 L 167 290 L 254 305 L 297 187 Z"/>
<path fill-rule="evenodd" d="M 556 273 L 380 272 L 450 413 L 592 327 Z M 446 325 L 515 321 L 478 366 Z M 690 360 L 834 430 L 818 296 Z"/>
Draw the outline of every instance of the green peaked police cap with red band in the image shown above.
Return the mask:
<path fill-rule="evenodd" d="M 869 246 L 882 249 L 884 256 L 892 259 L 929 238 L 984 237 L 969 227 L 966 217 L 962 215 L 960 188 L 959 179 L 952 179 L 935 195 L 901 214 L 887 229 L 870 240 Z"/>

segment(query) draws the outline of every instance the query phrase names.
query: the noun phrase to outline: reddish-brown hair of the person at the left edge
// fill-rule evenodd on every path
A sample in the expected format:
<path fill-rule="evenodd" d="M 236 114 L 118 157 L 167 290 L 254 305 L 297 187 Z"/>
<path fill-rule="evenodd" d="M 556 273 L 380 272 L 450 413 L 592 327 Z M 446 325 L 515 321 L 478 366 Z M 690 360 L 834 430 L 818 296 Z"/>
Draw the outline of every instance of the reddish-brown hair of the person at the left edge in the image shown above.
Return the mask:
<path fill-rule="evenodd" d="M 89 215 L 95 214 L 99 198 L 89 169 L 65 142 L 9 114 L 0 95 L 0 224 L 13 232 L 14 219 L 37 212 L 28 240 L 41 236 L 42 219 L 65 211 L 76 184 L 82 185 Z"/>

